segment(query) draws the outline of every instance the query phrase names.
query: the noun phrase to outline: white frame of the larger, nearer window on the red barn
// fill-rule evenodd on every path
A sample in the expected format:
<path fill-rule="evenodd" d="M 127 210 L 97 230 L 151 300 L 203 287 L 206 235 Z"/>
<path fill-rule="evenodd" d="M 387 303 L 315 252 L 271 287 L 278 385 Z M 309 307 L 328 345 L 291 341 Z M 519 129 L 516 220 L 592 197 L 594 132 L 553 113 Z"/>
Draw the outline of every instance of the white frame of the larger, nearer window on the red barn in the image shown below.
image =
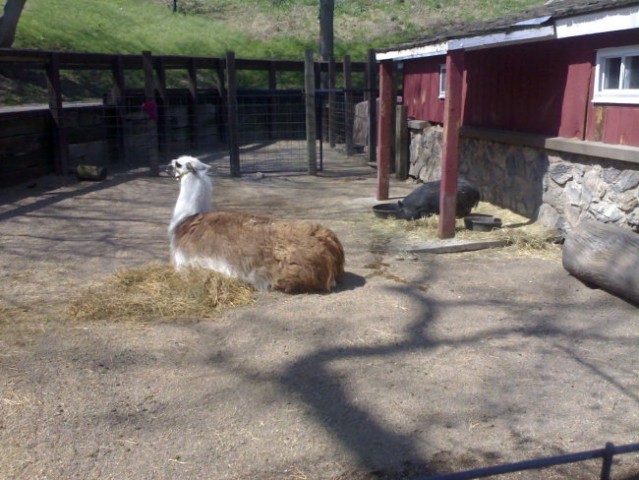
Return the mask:
<path fill-rule="evenodd" d="M 639 88 L 628 88 L 626 83 L 626 70 L 628 57 L 639 56 L 639 45 L 602 48 L 597 50 L 597 66 L 595 68 L 595 88 L 592 97 L 593 103 L 625 103 L 639 104 Z M 621 66 L 619 72 L 619 87 L 604 88 L 606 71 L 604 65 L 607 60 L 619 58 Z"/>

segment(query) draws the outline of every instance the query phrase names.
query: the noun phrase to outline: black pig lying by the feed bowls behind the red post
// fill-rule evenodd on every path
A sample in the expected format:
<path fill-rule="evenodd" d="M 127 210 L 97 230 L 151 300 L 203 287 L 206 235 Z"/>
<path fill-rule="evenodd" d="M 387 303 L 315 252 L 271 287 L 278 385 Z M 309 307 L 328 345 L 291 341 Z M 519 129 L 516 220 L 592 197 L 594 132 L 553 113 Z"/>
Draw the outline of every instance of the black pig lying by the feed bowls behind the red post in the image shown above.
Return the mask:
<path fill-rule="evenodd" d="M 439 187 L 441 181 L 426 182 L 410 194 L 404 200 L 397 202 L 397 218 L 415 220 L 421 217 L 430 217 L 439 214 Z M 458 218 L 470 214 L 471 210 L 479 203 L 480 195 L 477 187 L 467 180 L 460 178 L 457 182 L 457 208 L 455 216 Z"/>

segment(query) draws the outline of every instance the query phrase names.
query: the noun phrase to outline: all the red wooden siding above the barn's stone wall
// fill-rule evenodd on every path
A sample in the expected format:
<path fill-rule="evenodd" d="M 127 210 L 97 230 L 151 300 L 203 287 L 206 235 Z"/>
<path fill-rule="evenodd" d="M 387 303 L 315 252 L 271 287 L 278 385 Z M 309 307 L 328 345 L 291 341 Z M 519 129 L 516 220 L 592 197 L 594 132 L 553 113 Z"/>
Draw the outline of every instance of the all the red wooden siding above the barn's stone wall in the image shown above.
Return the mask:
<path fill-rule="evenodd" d="M 463 124 L 639 146 L 639 105 L 592 103 L 596 51 L 636 45 L 639 30 L 466 52 Z M 407 60 L 408 114 L 443 121 L 443 57 Z"/>

